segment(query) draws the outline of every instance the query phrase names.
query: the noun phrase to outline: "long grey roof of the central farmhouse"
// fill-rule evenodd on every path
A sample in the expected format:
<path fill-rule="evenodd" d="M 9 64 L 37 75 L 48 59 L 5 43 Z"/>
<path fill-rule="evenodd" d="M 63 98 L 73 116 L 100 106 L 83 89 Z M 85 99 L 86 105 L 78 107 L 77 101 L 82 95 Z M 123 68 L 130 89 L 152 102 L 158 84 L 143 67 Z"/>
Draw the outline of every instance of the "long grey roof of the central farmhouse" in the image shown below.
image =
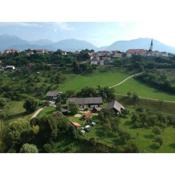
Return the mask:
<path fill-rule="evenodd" d="M 68 102 L 73 102 L 78 105 L 102 104 L 102 97 L 85 97 L 85 98 L 68 98 Z"/>

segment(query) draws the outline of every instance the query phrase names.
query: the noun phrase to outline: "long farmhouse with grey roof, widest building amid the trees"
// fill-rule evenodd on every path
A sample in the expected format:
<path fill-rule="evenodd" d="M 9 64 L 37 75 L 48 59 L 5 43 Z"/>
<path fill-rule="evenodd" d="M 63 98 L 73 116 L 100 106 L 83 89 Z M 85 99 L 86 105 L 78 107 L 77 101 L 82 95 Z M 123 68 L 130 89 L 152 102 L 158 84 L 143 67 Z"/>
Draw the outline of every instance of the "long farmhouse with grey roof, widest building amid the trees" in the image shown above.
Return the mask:
<path fill-rule="evenodd" d="M 79 106 L 80 109 L 100 107 L 103 103 L 102 97 L 85 97 L 85 98 L 68 98 L 68 103 L 72 102 Z"/>

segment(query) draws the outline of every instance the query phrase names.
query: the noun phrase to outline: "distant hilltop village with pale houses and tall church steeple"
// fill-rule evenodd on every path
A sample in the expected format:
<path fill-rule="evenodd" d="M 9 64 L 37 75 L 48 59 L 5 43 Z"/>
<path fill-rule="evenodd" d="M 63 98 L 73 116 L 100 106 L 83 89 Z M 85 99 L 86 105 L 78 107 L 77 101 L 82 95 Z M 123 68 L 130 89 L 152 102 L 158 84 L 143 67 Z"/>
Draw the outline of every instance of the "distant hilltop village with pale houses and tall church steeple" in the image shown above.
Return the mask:
<path fill-rule="evenodd" d="M 82 63 L 88 63 L 90 65 L 113 65 L 115 58 L 122 59 L 122 58 L 131 58 L 132 56 L 143 56 L 143 57 L 162 57 L 162 58 L 169 58 L 173 57 L 174 54 L 168 53 L 168 52 L 160 52 L 153 50 L 153 40 L 151 40 L 149 49 L 128 49 L 126 52 L 121 51 L 107 51 L 107 50 L 101 50 L 101 51 L 94 51 L 94 50 L 87 50 L 87 53 L 89 55 L 89 59 L 86 61 L 82 61 Z M 47 49 L 27 49 L 24 51 L 19 51 L 17 49 L 6 49 L 2 52 L 0 52 L 0 56 L 10 56 L 10 55 L 18 55 L 23 54 L 26 57 L 30 57 L 32 55 L 47 55 L 47 54 L 54 54 L 54 53 L 60 53 L 62 56 L 74 54 L 78 55 L 80 51 L 63 51 L 63 50 L 57 50 L 57 51 L 51 51 Z M 30 65 L 28 65 L 30 66 Z M 52 65 L 54 67 L 55 65 Z M 3 61 L 0 60 L 0 70 L 15 70 L 15 65 L 5 65 L 3 64 Z"/>

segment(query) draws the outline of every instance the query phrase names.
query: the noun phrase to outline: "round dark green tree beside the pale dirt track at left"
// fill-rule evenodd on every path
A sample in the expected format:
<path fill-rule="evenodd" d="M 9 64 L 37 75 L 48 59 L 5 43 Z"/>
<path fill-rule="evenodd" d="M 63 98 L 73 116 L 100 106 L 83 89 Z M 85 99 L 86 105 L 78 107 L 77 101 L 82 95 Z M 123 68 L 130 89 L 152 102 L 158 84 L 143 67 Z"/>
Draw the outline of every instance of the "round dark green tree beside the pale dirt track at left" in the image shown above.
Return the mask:
<path fill-rule="evenodd" d="M 27 113 L 32 113 L 32 112 L 34 112 L 34 111 L 36 110 L 36 108 L 37 108 L 37 101 L 34 100 L 33 98 L 28 98 L 28 99 L 25 101 L 23 107 L 26 109 L 26 112 L 27 112 Z"/>

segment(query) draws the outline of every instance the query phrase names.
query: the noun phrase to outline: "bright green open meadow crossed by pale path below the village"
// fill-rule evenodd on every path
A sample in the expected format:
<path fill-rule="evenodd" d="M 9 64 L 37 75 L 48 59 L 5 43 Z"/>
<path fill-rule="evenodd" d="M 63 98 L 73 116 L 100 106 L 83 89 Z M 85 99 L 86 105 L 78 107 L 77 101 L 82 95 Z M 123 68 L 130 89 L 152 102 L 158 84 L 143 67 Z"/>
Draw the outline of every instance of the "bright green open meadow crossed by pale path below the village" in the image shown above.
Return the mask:
<path fill-rule="evenodd" d="M 59 87 L 60 90 L 79 91 L 83 87 L 112 86 L 119 83 L 129 74 L 121 71 L 95 72 L 89 75 L 67 75 L 67 79 Z M 129 79 L 124 84 L 115 87 L 116 93 L 126 95 L 127 92 L 135 92 L 141 97 L 159 100 L 175 100 L 175 95 L 160 92 L 155 88 L 149 87 L 135 79 Z"/>

